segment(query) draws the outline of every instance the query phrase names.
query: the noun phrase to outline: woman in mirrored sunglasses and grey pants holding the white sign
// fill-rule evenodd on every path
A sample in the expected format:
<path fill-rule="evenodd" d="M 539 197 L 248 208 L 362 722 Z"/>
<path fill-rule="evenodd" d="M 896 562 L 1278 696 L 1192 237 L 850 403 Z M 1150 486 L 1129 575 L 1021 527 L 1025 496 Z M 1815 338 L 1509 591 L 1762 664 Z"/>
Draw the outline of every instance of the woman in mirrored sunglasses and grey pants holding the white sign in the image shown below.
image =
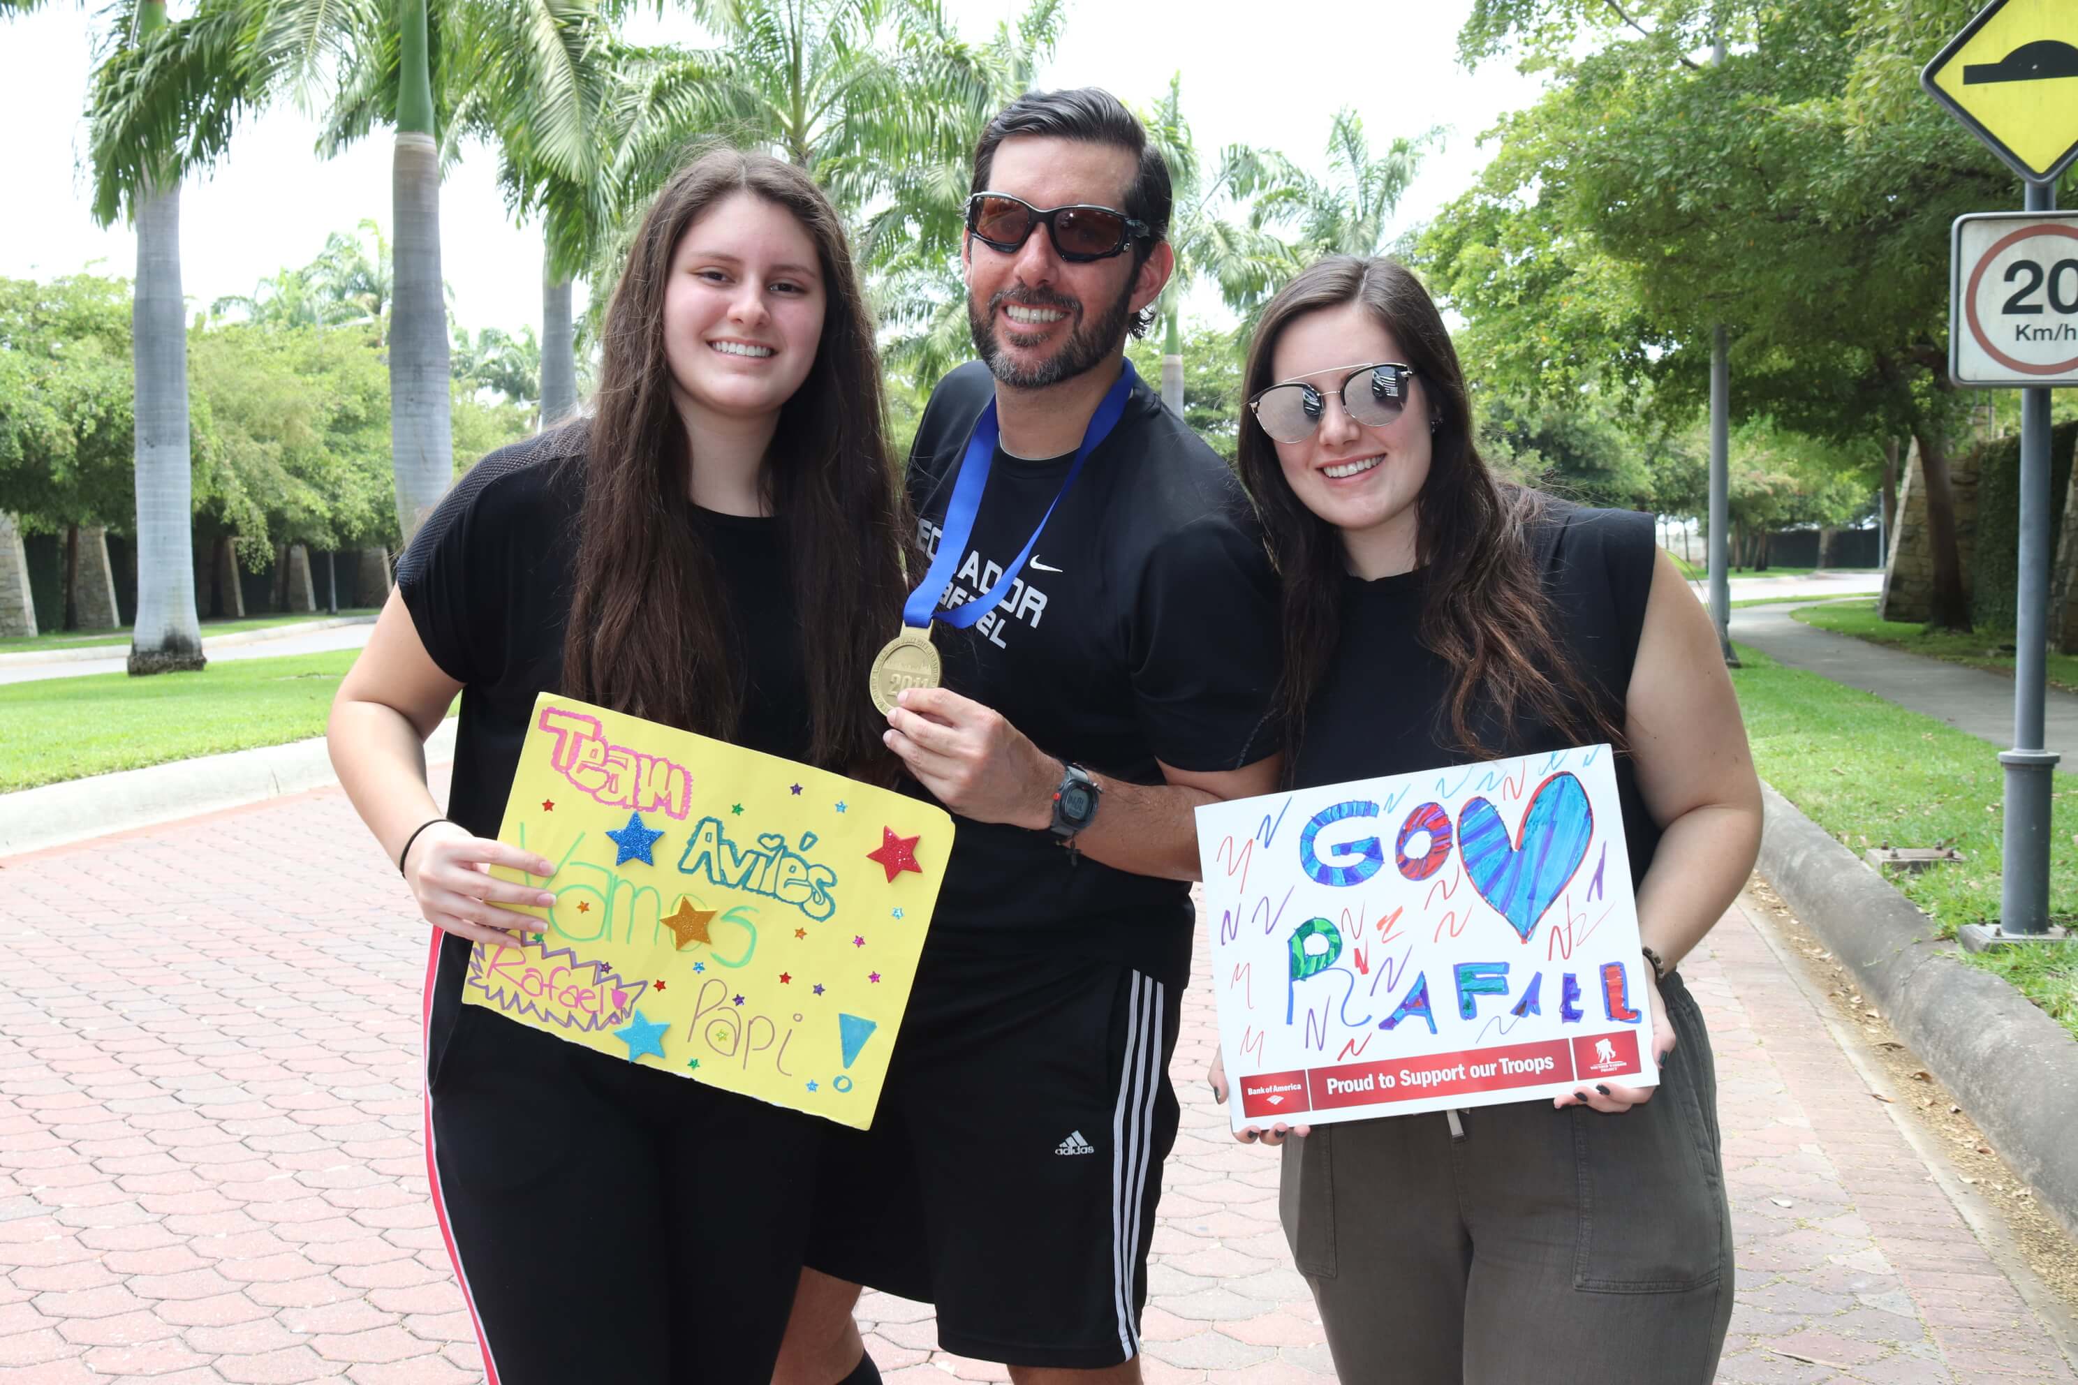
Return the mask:
<path fill-rule="evenodd" d="M 1293 781 L 1615 743 L 1660 974 L 1656 1090 L 1241 1134 L 1284 1144 L 1284 1231 L 1336 1373 L 1708 1385 L 1733 1242 L 1710 1040 L 1675 968 L 1760 843 L 1716 633 L 1650 515 L 1488 471 L 1450 336 L 1398 264 L 1332 257 L 1286 284 L 1247 390 L 1241 473 L 1282 586 Z"/>

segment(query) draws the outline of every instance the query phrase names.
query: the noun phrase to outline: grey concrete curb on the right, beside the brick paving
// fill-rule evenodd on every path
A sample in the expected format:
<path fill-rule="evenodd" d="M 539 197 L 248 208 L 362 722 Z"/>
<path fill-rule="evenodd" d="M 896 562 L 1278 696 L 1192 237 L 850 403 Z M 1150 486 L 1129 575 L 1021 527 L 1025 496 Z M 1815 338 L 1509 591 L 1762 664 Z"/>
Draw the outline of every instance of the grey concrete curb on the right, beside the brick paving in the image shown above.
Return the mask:
<path fill-rule="evenodd" d="M 1824 939 L 1999 1155 L 2078 1233 L 2078 1042 L 1955 945 L 1847 847 L 1762 785 L 1764 874 Z"/>

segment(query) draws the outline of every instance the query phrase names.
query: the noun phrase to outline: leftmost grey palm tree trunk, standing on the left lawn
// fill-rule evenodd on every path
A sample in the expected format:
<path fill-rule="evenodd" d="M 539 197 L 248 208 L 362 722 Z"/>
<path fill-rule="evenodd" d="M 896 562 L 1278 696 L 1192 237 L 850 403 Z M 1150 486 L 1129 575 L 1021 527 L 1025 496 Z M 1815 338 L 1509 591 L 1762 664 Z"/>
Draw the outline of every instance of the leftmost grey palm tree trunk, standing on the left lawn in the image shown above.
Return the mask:
<path fill-rule="evenodd" d="M 156 8 L 164 17 L 164 6 Z M 195 621 L 193 467 L 187 451 L 187 305 L 181 299 L 181 187 L 137 201 L 137 625 L 131 673 L 202 669 Z"/>

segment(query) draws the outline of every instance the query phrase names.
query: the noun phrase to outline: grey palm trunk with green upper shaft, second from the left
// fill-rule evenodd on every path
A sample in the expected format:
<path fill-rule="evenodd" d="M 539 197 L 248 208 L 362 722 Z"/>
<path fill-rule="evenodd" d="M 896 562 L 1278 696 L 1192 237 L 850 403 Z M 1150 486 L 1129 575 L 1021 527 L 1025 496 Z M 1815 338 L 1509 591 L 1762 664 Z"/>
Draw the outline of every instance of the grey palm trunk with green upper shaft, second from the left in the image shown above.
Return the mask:
<path fill-rule="evenodd" d="M 447 299 L 441 284 L 441 152 L 432 139 L 426 0 L 403 0 L 403 62 L 391 197 L 397 218 L 391 309 L 391 469 L 405 544 L 455 478 Z"/>

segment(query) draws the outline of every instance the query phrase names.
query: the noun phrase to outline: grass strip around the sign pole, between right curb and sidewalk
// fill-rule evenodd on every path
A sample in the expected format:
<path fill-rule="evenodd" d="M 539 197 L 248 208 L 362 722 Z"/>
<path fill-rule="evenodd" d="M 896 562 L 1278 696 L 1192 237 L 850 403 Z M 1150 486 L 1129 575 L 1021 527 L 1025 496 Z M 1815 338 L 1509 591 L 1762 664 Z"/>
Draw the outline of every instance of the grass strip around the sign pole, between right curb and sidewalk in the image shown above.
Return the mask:
<path fill-rule="evenodd" d="M 1739 646 L 1733 671 L 1760 777 L 1856 853 L 1955 847 L 1966 860 L 1889 876 L 1953 936 L 1999 914 L 2003 770 L 1997 750 L 1930 716 Z M 2078 924 L 2078 775 L 2055 775 L 2049 909 Z M 1964 955 L 2005 976 L 2078 1036 L 2078 951 Z"/>

